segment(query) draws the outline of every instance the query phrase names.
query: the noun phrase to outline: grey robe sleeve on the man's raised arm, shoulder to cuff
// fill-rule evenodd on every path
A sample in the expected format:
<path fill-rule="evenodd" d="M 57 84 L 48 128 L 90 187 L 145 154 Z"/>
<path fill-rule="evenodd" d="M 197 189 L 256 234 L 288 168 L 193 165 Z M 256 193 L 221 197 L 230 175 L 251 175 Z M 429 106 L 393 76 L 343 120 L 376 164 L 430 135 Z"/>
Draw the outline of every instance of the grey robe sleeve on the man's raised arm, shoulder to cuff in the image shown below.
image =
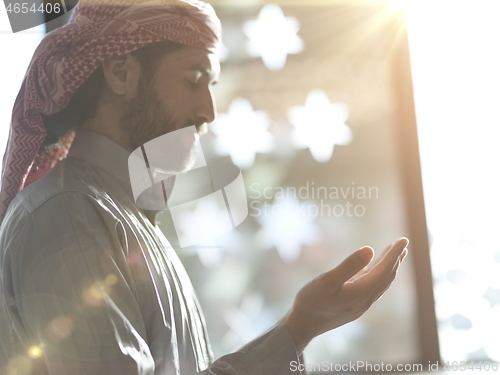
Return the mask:
<path fill-rule="evenodd" d="M 45 204 L 54 216 L 25 213 L 2 228 L 8 323 L 31 348 L 30 358 L 11 359 L 9 368 L 28 361 L 33 374 L 39 366 L 50 375 L 155 374 L 118 224 L 78 192 Z M 293 363 L 299 363 L 293 338 L 276 325 L 200 374 L 299 374 Z"/>

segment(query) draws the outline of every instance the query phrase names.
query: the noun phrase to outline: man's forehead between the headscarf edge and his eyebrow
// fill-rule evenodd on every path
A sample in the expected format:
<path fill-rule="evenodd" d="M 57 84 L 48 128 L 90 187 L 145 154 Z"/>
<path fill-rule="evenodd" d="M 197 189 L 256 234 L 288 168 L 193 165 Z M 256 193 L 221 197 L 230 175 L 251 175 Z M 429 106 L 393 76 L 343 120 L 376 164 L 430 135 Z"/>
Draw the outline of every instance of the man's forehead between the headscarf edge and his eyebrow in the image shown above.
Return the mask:
<path fill-rule="evenodd" d="M 213 53 L 204 49 L 186 46 L 167 54 L 160 63 L 165 70 L 182 72 L 201 72 L 210 79 L 218 79 L 220 74 L 219 59 Z"/>

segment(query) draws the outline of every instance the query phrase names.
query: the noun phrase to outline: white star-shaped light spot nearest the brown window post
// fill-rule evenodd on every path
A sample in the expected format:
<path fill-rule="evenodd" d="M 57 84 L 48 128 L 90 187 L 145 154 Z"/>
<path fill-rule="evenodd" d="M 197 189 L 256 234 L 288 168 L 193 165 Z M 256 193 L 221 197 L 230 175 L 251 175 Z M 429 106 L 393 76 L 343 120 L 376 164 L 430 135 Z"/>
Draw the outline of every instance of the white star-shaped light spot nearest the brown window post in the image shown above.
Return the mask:
<path fill-rule="evenodd" d="M 318 162 L 330 160 L 336 144 L 346 145 L 352 140 L 352 131 L 345 124 L 348 117 L 345 104 L 330 103 L 328 95 L 321 90 L 311 91 L 305 106 L 288 110 L 288 120 L 295 127 L 293 145 L 299 149 L 309 148 Z"/>

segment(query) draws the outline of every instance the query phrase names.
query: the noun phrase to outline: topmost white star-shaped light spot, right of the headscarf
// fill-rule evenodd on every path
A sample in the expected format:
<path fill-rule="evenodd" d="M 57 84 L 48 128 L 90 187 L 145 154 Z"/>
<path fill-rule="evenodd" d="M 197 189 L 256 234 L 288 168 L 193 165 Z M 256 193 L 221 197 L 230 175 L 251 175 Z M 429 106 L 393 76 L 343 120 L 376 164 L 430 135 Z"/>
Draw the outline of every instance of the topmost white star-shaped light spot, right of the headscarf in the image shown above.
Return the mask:
<path fill-rule="evenodd" d="M 304 43 L 297 35 L 299 28 L 297 19 L 285 17 L 278 5 L 267 4 L 256 20 L 243 25 L 243 32 L 250 39 L 248 53 L 261 57 L 268 69 L 279 70 L 285 66 L 288 54 L 304 49 Z"/>

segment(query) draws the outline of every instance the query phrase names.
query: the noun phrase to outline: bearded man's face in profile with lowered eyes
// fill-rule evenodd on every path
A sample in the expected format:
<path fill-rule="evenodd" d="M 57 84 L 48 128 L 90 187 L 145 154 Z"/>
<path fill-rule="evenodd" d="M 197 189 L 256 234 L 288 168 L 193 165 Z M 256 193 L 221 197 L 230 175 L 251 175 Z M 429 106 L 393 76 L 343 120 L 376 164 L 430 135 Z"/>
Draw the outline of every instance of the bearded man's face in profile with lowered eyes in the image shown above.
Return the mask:
<path fill-rule="evenodd" d="M 152 79 L 141 76 L 136 96 L 126 106 L 120 128 L 128 149 L 135 150 L 161 135 L 195 125 L 199 134 L 216 117 L 212 85 L 220 65 L 208 51 L 186 46 L 164 56 Z M 182 170 L 198 136 L 179 139 L 181 147 L 164 150 L 169 164 Z"/>

